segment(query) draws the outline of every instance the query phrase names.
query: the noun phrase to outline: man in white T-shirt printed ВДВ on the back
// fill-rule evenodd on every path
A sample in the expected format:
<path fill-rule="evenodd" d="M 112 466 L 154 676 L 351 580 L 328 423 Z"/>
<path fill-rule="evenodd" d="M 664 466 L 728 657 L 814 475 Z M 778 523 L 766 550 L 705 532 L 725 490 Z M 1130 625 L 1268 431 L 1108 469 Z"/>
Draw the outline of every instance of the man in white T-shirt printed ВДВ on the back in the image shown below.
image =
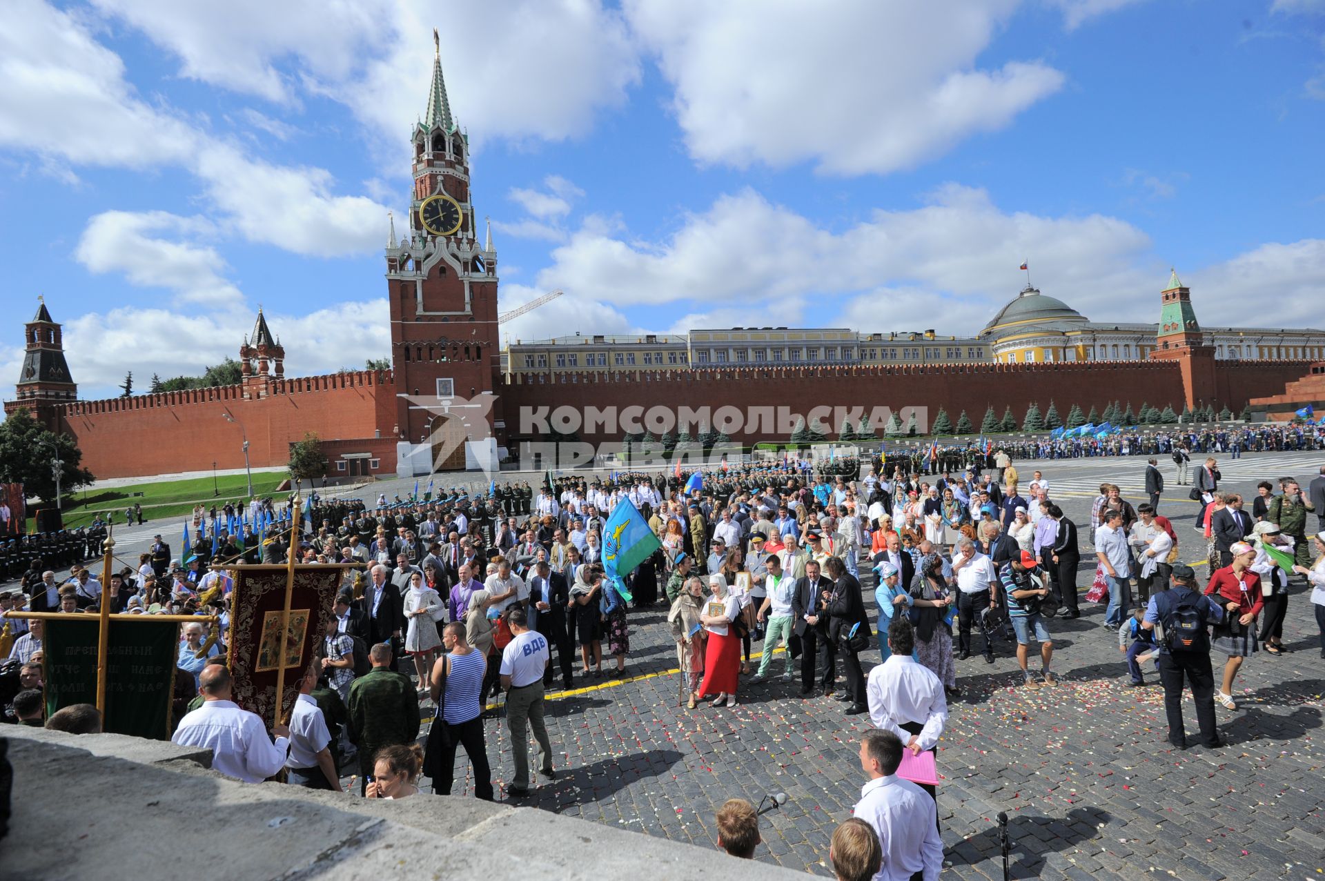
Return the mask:
<path fill-rule="evenodd" d="M 506 787 L 507 795 L 529 795 L 529 729 L 538 742 L 542 768 L 547 779 L 553 771 L 553 745 L 543 725 L 543 670 L 551 658 L 547 639 L 529 629 L 525 607 L 515 605 L 506 612 L 506 624 L 514 635 L 501 656 L 501 686 L 506 690 L 506 727 L 514 750 L 515 778 Z"/>

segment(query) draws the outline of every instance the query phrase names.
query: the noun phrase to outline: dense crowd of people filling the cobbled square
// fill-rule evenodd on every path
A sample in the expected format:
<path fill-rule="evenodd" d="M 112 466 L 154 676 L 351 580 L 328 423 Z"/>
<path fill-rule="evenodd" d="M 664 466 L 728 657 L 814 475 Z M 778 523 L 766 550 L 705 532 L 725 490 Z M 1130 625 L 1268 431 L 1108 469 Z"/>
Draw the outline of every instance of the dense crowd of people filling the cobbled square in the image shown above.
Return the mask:
<path fill-rule="evenodd" d="M 979 653 L 994 662 L 1011 641 L 1024 688 L 1059 686 L 1051 627 L 1056 617 L 1081 616 L 1081 533 L 1088 530 L 1096 563 L 1085 599 L 1108 601 L 1104 627 L 1118 640 L 1130 682 L 1143 685 L 1146 666 L 1158 670 L 1174 746 L 1187 747 L 1185 685 L 1195 697 L 1200 743 L 1220 745 L 1214 701 L 1236 706 L 1234 684 L 1252 653 L 1288 650 L 1281 636 L 1295 582 L 1313 587 L 1325 656 L 1325 531 L 1313 534 L 1306 522 L 1314 513 L 1325 527 L 1325 468 L 1305 490 L 1292 477 L 1279 480 L 1279 492 L 1261 482 L 1251 511 L 1220 489 L 1216 453 L 1224 444 L 1275 439 L 1277 431 L 1293 436 L 1244 429 L 1185 437 L 1175 446 L 1157 437 L 1147 448 L 1157 449 L 1147 469 L 1157 469 L 1166 449 L 1203 458 L 1177 481 L 1190 484 L 1199 502 L 1195 544 L 1210 567 L 1203 586 L 1179 560 L 1173 522 L 1157 510 L 1162 478 L 1153 489 L 1147 473 L 1153 492 L 1137 503 L 1117 485 L 1101 485 L 1079 533 L 1053 501 L 1041 462 L 1023 466 L 1031 470 L 1026 478 L 1004 449 L 937 476 L 916 469 L 909 456 L 888 454 L 836 460 L 820 470 L 798 461 L 713 469 L 689 492 L 689 474 L 625 472 L 563 477 L 527 499 L 519 492 L 379 497 L 375 506 L 315 499 L 290 515 L 317 526 L 293 548 L 280 533 L 260 539 L 262 559 L 295 554 L 355 566 L 325 621 L 297 713 L 270 731 L 274 741 L 231 700 L 221 647 L 225 572 L 235 556 L 182 562 L 158 538 L 139 570 L 113 574 L 110 590 L 87 568 L 74 566 L 61 584 L 50 570 L 30 566 L 38 574 L 25 578 L 25 595 L 0 601 L 77 613 L 110 597 L 115 611 L 217 613 L 221 623 L 211 635 L 192 624 L 182 631 L 179 666 L 187 678 L 176 677 L 186 684 L 176 741 L 231 750 L 217 767 L 241 780 L 285 775 L 289 783 L 339 790 L 339 770 L 355 767 L 363 795 L 394 799 L 413 795 L 421 775 L 435 792 L 450 792 L 458 747 L 474 795 L 494 798 L 484 726 L 493 698 L 510 731 L 507 798 L 527 795 L 535 771 L 555 778 L 556 752 L 543 722 L 547 690 L 556 681 L 571 689 L 629 676 L 631 615 L 661 603 L 686 711 L 705 711 L 701 702 L 730 711 L 751 688 L 799 678 L 803 700 L 837 700 L 847 715 L 868 714 L 877 731 L 861 742 L 869 783 L 857 819 L 873 831 L 888 877 L 930 878 L 942 857 L 937 791 L 898 778 L 898 767 L 916 776 L 912 762 L 933 758 L 947 701 L 961 696 L 959 661 Z M 1304 437 L 1316 442 L 1314 435 Z M 627 501 L 660 547 L 616 580 L 604 572 L 603 531 Z M 205 514 L 197 525 L 203 537 Z M 237 544 L 217 521 L 211 518 L 217 546 Z M 158 579 L 168 587 L 152 592 Z M 29 693 L 40 694 L 33 660 L 40 664 L 41 628 L 20 621 L 9 620 L 23 628 L 11 656 L 23 665 L 24 688 L 5 696 L 5 705 L 15 721 L 32 723 L 40 721 Z M 757 665 L 753 649 L 761 649 Z M 867 672 L 863 658 L 873 650 L 880 662 Z M 1227 658 L 1218 692 L 1212 652 Z M 420 745 L 420 709 L 429 703 L 435 721 Z M 926 798 L 928 807 L 917 809 Z M 739 832 L 747 812 L 734 805 L 727 815 L 727 827 L 722 816 L 718 821 L 730 829 L 725 844 L 753 851 Z M 833 853 L 835 865 L 837 857 L 873 865 L 857 825 L 833 836 Z"/>

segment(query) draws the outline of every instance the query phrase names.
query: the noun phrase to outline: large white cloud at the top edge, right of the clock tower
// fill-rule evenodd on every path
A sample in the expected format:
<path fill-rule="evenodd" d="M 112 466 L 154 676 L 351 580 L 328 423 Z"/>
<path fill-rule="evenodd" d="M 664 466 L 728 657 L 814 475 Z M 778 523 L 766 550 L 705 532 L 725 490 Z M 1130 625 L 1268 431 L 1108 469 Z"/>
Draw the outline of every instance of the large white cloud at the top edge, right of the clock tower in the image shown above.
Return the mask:
<path fill-rule="evenodd" d="M 1056 91 L 1039 61 L 978 68 L 1015 0 L 627 0 L 676 87 L 690 154 L 704 163 L 890 172 L 1008 125 Z"/>

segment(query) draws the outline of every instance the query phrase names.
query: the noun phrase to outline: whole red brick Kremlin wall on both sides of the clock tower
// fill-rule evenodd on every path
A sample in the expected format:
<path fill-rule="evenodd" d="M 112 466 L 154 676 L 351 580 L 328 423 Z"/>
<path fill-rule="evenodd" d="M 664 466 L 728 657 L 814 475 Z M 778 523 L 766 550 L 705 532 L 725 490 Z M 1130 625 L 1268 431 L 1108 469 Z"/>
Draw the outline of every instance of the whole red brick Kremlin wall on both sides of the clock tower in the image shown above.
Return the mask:
<path fill-rule="evenodd" d="M 1215 368 L 1216 407 L 1235 413 L 1251 397 L 1276 395 L 1306 372 L 1309 362 L 1219 362 Z M 612 376 L 617 379 L 612 379 Z M 553 382 L 555 379 L 555 382 Z M 500 387 L 506 435 L 521 436 L 522 407 L 779 407 L 796 412 L 814 407 L 886 405 L 947 409 L 953 421 L 965 409 L 979 427 L 984 408 L 1002 416 L 1011 404 L 1020 420 L 1031 401 L 1041 411 L 1052 400 L 1067 416 L 1072 404 L 1104 409 L 1120 400 L 1181 409 L 1182 378 L 1175 362 L 1094 362 L 1055 364 L 945 364 L 897 367 L 632 371 L 570 374 L 547 382 L 523 378 Z M 245 392 L 252 397 L 244 397 Z M 265 393 L 264 393 L 265 392 Z M 1191 401 L 1192 404 L 1198 401 Z M 391 371 L 359 371 L 298 379 L 250 380 L 245 386 L 186 392 L 138 395 L 60 407 L 64 431 L 83 452 L 83 465 L 98 477 L 138 477 L 174 472 L 203 472 L 244 466 L 240 425 L 244 423 L 249 460 L 254 468 L 289 461 L 289 445 L 317 432 L 329 454 L 371 452 L 378 474 L 395 472 L 396 387 Z M 831 431 L 836 431 L 836 425 Z M 380 432 L 380 435 L 379 435 Z M 527 435 L 525 435 L 527 437 Z M 620 435 L 580 432 L 583 440 L 620 440 Z M 362 439 L 364 442 L 348 441 Z M 501 437 L 500 442 L 505 442 Z M 738 435 L 733 440 L 770 440 Z M 362 446 L 362 449 L 359 449 Z M 335 457 L 334 456 L 334 457 Z M 333 457 L 333 458 L 334 458 Z M 333 465 L 331 474 L 335 476 Z"/>

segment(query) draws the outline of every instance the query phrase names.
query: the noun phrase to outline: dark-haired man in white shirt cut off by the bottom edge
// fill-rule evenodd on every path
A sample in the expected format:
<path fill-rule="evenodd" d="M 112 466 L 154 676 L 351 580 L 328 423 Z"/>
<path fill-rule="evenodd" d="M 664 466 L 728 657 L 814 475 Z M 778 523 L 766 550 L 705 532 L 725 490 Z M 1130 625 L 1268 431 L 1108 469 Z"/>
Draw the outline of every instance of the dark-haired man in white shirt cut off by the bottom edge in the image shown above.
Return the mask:
<path fill-rule="evenodd" d="M 938 808 L 925 791 L 897 776 L 902 742 L 892 731 L 868 731 L 860 738 L 860 767 L 869 782 L 860 790 L 853 813 L 878 836 L 884 864 L 874 881 L 937 881 L 943 868 L 938 837 Z"/>

